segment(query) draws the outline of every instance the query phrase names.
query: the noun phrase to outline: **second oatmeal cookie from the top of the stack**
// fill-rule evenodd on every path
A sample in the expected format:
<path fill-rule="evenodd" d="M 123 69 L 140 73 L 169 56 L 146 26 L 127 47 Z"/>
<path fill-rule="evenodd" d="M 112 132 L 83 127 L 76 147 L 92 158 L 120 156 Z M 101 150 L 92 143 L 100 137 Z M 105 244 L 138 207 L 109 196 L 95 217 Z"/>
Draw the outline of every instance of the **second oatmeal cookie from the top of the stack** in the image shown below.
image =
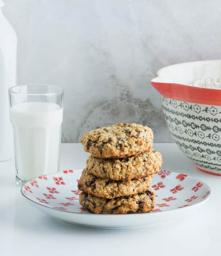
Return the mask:
<path fill-rule="evenodd" d="M 99 178 L 132 180 L 157 173 L 161 165 L 161 154 L 151 150 L 136 156 L 119 159 L 89 156 L 86 168 L 89 173 Z"/>

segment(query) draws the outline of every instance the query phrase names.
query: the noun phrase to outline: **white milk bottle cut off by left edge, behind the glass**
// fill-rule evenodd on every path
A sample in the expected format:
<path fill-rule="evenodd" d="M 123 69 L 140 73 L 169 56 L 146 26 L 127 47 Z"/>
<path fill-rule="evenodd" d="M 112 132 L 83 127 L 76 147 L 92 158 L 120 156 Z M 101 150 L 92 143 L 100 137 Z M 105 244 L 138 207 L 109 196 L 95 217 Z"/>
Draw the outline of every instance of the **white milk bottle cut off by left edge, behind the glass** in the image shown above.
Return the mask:
<path fill-rule="evenodd" d="M 13 132 L 10 123 L 8 89 L 16 85 L 17 37 L 2 14 L 0 0 L 0 161 L 13 156 Z"/>

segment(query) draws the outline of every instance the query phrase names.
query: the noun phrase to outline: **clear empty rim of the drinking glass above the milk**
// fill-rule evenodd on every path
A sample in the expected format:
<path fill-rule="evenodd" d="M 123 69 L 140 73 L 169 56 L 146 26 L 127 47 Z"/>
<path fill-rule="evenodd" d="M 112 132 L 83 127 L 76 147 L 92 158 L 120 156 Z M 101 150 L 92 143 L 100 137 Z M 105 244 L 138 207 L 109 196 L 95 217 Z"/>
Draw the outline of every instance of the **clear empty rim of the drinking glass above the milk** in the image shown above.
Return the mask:
<path fill-rule="evenodd" d="M 27 92 L 17 92 L 14 89 L 18 89 L 18 88 L 22 88 L 25 86 L 48 86 L 51 88 L 56 88 L 57 92 L 40 92 L 40 93 L 27 93 Z M 16 86 L 12 86 L 8 89 L 9 93 L 12 94 L 21 94 L 21 95 L 50 95 L 50 94 L 62 94 L 64 93 L 64 89 L 58 85 L 54 85 L 54 84 L 19 84 Z"/>

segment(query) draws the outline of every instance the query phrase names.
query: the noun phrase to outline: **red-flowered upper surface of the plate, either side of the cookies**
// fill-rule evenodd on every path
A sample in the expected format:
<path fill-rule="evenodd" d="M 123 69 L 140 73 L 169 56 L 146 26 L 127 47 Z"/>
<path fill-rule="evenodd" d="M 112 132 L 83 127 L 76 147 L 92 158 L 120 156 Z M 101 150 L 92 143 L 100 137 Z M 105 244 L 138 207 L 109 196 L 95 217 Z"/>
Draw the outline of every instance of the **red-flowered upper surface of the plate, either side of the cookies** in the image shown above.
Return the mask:
<path fill-rule="evenodd" d="M 78 180 L 81 171 L 66 170 L 39 176 L 39 178 L 27 182 L 21 191 L 25 197 L 44 205 L 44 207 L 79 214 L 91 214 L 79 204 L 81 190 L 78 190 Z M 154 214 L 190 207 L 205 201 L 210 195 L 209 187 L 199 180 L 186 174 L 166 170 L 159 175 L 153 175 L 152 184 L 153 191 L 157 193 L 156 207 L 151 211 Z"/>

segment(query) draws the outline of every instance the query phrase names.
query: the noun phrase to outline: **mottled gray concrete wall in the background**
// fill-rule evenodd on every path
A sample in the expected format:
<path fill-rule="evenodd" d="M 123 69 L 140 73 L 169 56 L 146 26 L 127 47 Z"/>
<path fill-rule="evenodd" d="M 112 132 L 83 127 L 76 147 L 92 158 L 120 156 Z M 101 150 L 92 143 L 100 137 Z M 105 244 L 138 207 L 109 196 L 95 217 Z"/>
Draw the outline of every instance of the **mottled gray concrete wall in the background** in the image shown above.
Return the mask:
<path fill-rule="evenodd" d="M 219 0 L 5 0 L 18 36 L 18 83 L 65 89 L 63 141 L 96 127 L 149 125 L 171 142 L 159 94 L 159 68 L 219 59 Z"/>

